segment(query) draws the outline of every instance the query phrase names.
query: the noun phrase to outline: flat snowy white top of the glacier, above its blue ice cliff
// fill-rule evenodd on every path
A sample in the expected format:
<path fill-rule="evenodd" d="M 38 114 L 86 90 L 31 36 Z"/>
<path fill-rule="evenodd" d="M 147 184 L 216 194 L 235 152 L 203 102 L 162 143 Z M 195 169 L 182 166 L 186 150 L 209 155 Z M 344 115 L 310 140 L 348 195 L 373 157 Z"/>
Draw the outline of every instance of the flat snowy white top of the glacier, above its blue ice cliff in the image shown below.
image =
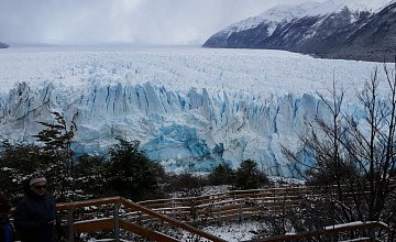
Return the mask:
<path fill-rule="evenodd" d="M 20 47 L 0 50 L 0 91 L 16 82 L 54 82 L 65 87 L 92 84 L 145 84 L 188 91 L 283 95 L 326 91 L 332 79 L 346 91 L 363 85 L 378 63 L 318 59 L 273 50 L 200 47 Z"/>

